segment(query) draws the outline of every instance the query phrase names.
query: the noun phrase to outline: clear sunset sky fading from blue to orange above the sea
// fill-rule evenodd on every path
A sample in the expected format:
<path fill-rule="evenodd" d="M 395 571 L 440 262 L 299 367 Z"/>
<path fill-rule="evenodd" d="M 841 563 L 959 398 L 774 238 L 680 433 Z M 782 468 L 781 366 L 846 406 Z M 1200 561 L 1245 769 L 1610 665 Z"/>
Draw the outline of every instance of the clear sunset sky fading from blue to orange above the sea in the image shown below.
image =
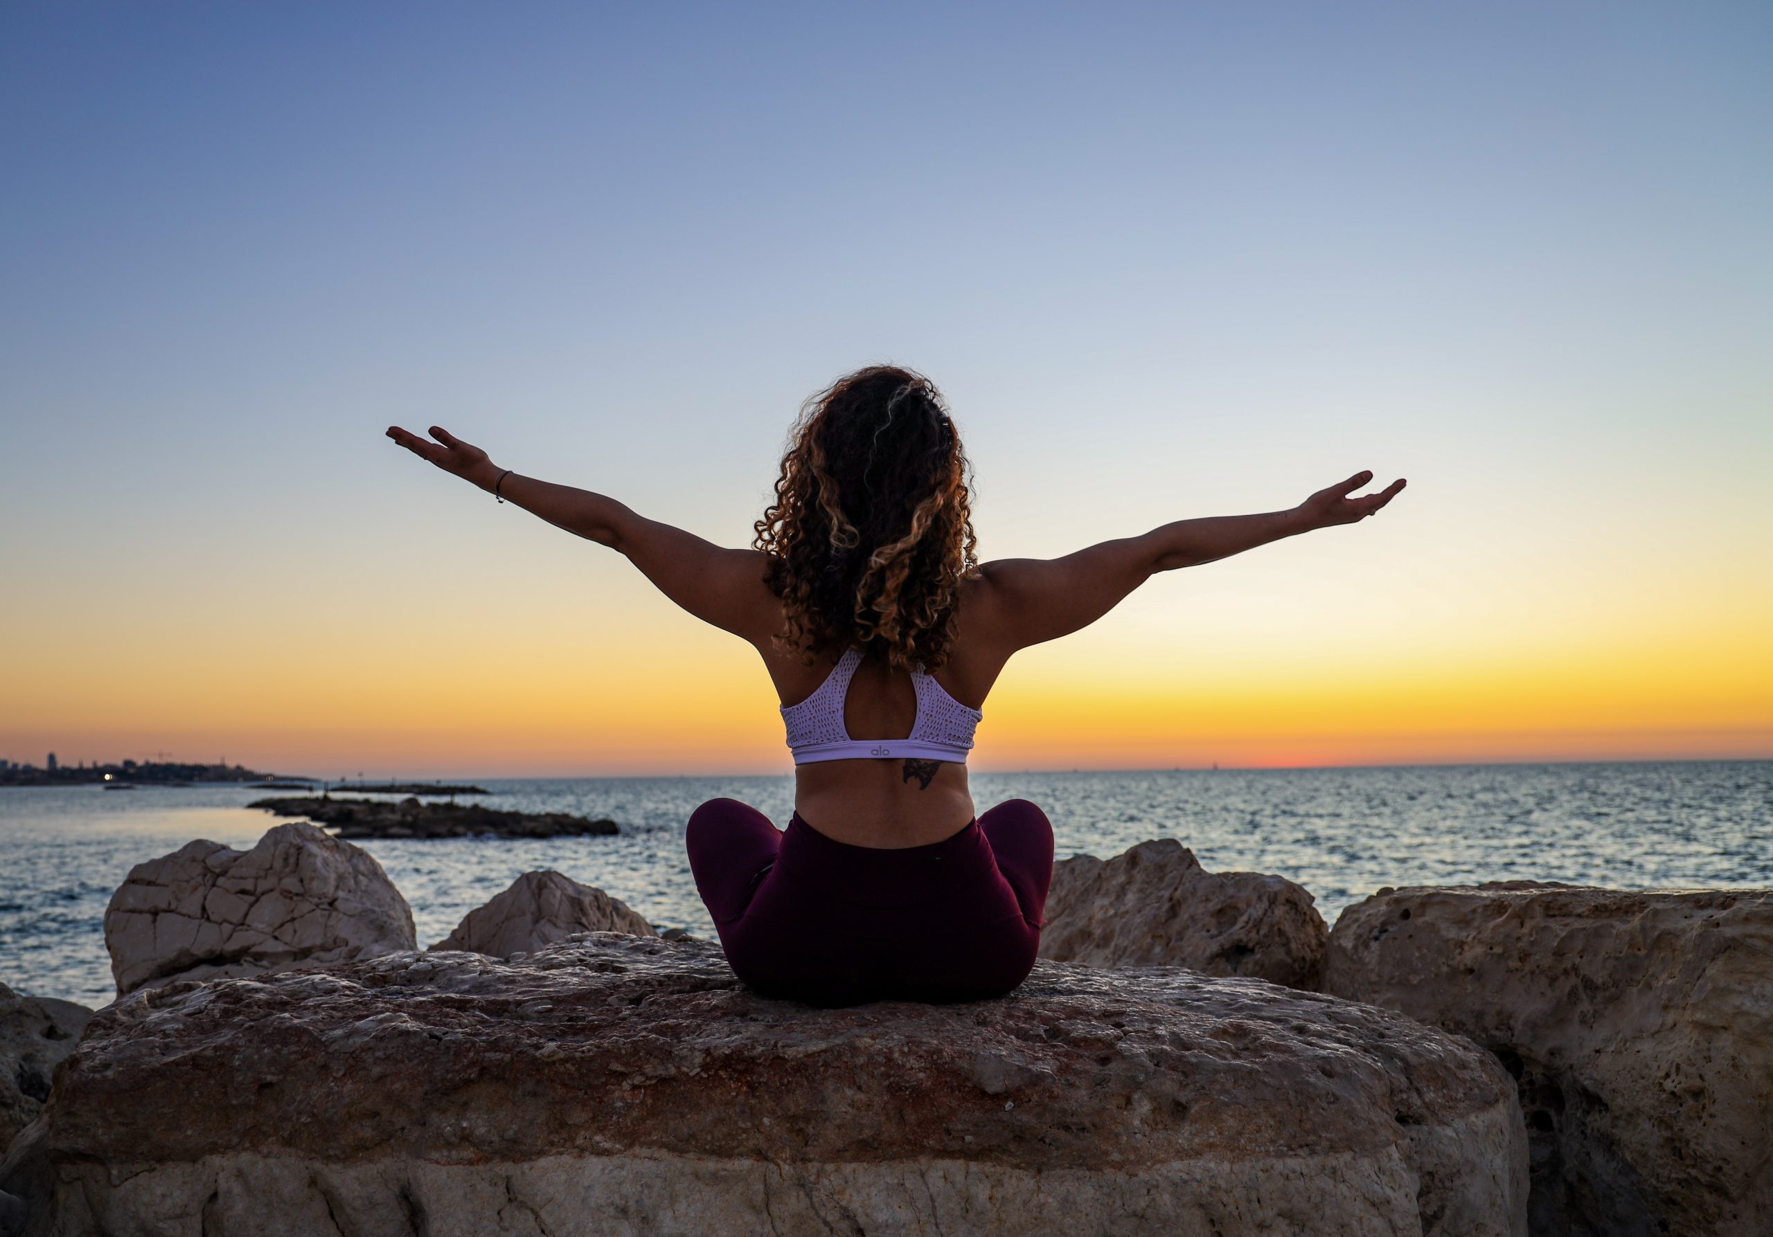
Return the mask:
<path fill-rule="evenodd" d="M 1773 755 L 1766 4 L 0 9 L 0 757 L 789 767 L 755 654 L 381 438 L 743 544 L 947 392 L 984 556 L 1291 507 L 975 764 Z"/>

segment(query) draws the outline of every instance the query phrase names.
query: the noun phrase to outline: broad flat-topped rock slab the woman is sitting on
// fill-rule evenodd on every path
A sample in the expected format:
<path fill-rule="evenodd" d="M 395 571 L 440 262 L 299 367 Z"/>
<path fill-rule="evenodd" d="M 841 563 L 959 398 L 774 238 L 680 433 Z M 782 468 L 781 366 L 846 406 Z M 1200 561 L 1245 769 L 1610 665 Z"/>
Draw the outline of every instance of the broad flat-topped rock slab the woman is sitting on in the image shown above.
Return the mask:
<path fill-rule="evenodd" d="M 35 1237 L 1500 1237 L 1519 1122 L 1475 1046 L 1257 980 L 812 1010 L 589 934 L 117 1001 L 0 1189 Z"/>

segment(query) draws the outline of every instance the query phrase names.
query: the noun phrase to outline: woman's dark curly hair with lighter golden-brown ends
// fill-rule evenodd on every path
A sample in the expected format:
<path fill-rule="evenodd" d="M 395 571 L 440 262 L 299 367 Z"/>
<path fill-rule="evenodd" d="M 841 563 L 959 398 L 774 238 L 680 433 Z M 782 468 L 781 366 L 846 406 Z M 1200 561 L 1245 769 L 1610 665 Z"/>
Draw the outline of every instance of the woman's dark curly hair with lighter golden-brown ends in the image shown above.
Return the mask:
<path fill-rule="evenodd" d="M 808 665 L 858 649 L 899 670 L 940 666 L 979 569 L 970 475 L 922 374 L 871 365 L 808 399 L 752 542 L 782 599 L 775 647 Z"/>

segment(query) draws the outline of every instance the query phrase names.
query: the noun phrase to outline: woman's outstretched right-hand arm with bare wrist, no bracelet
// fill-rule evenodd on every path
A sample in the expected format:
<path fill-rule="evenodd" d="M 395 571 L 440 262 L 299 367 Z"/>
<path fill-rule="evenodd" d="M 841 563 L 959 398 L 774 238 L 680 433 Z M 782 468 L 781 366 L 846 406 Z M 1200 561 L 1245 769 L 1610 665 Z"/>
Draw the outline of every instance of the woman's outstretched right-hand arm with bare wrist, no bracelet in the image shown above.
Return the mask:
<path fill-rule="evenodd" d="M 1291 510 L 1179 519 L 1142 537 L 1105 541 L 1064 558 L 989 562 L 980 569 L 980 588 L 972 603 L 975 626 L 989 633 L 1005 657 L 1016 649 L 1067 636 L 1089 627 L 1160 571 L 1229 558 L 1314 528 L 1353 525 L 1404 487 L 1399 478 L 1378 494 L 1349 496 L 1371 480 L 1371 471 L 1355 473 Z"/>

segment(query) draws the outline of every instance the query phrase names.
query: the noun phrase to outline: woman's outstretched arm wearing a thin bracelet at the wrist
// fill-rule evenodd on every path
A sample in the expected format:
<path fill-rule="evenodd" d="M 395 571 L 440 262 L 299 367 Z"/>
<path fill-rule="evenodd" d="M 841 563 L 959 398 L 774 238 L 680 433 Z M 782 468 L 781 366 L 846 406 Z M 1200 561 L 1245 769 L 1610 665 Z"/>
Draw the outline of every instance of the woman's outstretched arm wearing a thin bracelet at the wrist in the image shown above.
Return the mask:
<path fill-rule="evenodd" d="M 461 441 L 441 425 L 427 441 L 399 425 L 388 438 L 507 503 L 541 516 L 628 556 L 660 592 L 697 618 L 757 643 L 780 626 L 780 606 L 764 587 L 764 562 L 755 549 L 723 549 L 695 533 L 647 519 L 626 505 L 589 489 L 523 477 L 495 464 L 484 450 Z M 504 478 L 504 480 L 500 480 Z"/>

